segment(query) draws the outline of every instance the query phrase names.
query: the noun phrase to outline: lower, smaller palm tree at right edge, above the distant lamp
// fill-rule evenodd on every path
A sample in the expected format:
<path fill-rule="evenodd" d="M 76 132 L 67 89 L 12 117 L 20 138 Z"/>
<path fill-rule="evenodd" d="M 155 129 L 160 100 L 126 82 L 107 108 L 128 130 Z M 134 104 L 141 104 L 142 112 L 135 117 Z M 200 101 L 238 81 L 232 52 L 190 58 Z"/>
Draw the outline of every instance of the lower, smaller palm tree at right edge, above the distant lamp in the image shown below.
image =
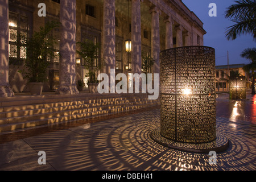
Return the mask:
<path fill-rule="evenodd" d="M 254 72 L 256 70 L 256 48 L 246 48 L 243 50 L 243 52 L 241 53 L 241 57 L 245 58 L 245 59 L 249 59 L 251 60 L 251 63 L 250 64 L 246 64 L 244 67 L 243 67 L 243 70 L 245 72 L 250 72 L 251 71 L 251 74 L 252 74 L 252 89 L 251 89 L 251 94 L 255 94 L 255 88 L 254 88 Z"/>

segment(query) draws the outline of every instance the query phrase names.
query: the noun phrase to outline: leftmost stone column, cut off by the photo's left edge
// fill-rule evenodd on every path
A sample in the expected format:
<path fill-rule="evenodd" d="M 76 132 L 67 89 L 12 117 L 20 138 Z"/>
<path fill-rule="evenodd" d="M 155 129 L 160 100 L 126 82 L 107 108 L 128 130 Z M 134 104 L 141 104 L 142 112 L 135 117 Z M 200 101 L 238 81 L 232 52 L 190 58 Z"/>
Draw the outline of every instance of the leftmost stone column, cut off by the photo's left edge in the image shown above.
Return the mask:
<path fill-rule="evenodd" d="M 14 93 L 9 84 L 8 0 L 0 0 L 0 8 L 0 97 L 12 97 Z"/>

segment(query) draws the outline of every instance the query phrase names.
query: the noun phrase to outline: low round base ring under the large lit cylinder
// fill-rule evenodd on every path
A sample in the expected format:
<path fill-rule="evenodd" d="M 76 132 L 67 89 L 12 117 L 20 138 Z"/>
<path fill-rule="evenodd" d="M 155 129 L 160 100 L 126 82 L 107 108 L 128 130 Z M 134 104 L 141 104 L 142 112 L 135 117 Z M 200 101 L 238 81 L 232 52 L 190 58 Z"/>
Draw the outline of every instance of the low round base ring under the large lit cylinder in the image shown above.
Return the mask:
<path fill-rule="evenodd" d="M 183 143 L 164 138 L 160 129 L 152 130 L 150 137 L 159 144 L 179 151 L 209 153 L 209 151 L 223 152 L 229 147 L 229 140 L 224 135 L 217 133 L 216 140 L 208 143 Z"/>

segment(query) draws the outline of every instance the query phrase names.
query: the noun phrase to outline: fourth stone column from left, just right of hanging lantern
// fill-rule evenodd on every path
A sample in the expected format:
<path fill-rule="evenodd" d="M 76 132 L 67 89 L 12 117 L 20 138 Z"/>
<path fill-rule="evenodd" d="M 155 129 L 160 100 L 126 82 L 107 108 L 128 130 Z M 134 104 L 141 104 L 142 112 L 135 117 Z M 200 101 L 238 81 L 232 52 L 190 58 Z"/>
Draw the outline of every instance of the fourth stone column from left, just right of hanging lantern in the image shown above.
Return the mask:
<path fill-rule="evenodd" d="M 131 0 L 131 72 L 141 74 L 141 1 Z"/>

